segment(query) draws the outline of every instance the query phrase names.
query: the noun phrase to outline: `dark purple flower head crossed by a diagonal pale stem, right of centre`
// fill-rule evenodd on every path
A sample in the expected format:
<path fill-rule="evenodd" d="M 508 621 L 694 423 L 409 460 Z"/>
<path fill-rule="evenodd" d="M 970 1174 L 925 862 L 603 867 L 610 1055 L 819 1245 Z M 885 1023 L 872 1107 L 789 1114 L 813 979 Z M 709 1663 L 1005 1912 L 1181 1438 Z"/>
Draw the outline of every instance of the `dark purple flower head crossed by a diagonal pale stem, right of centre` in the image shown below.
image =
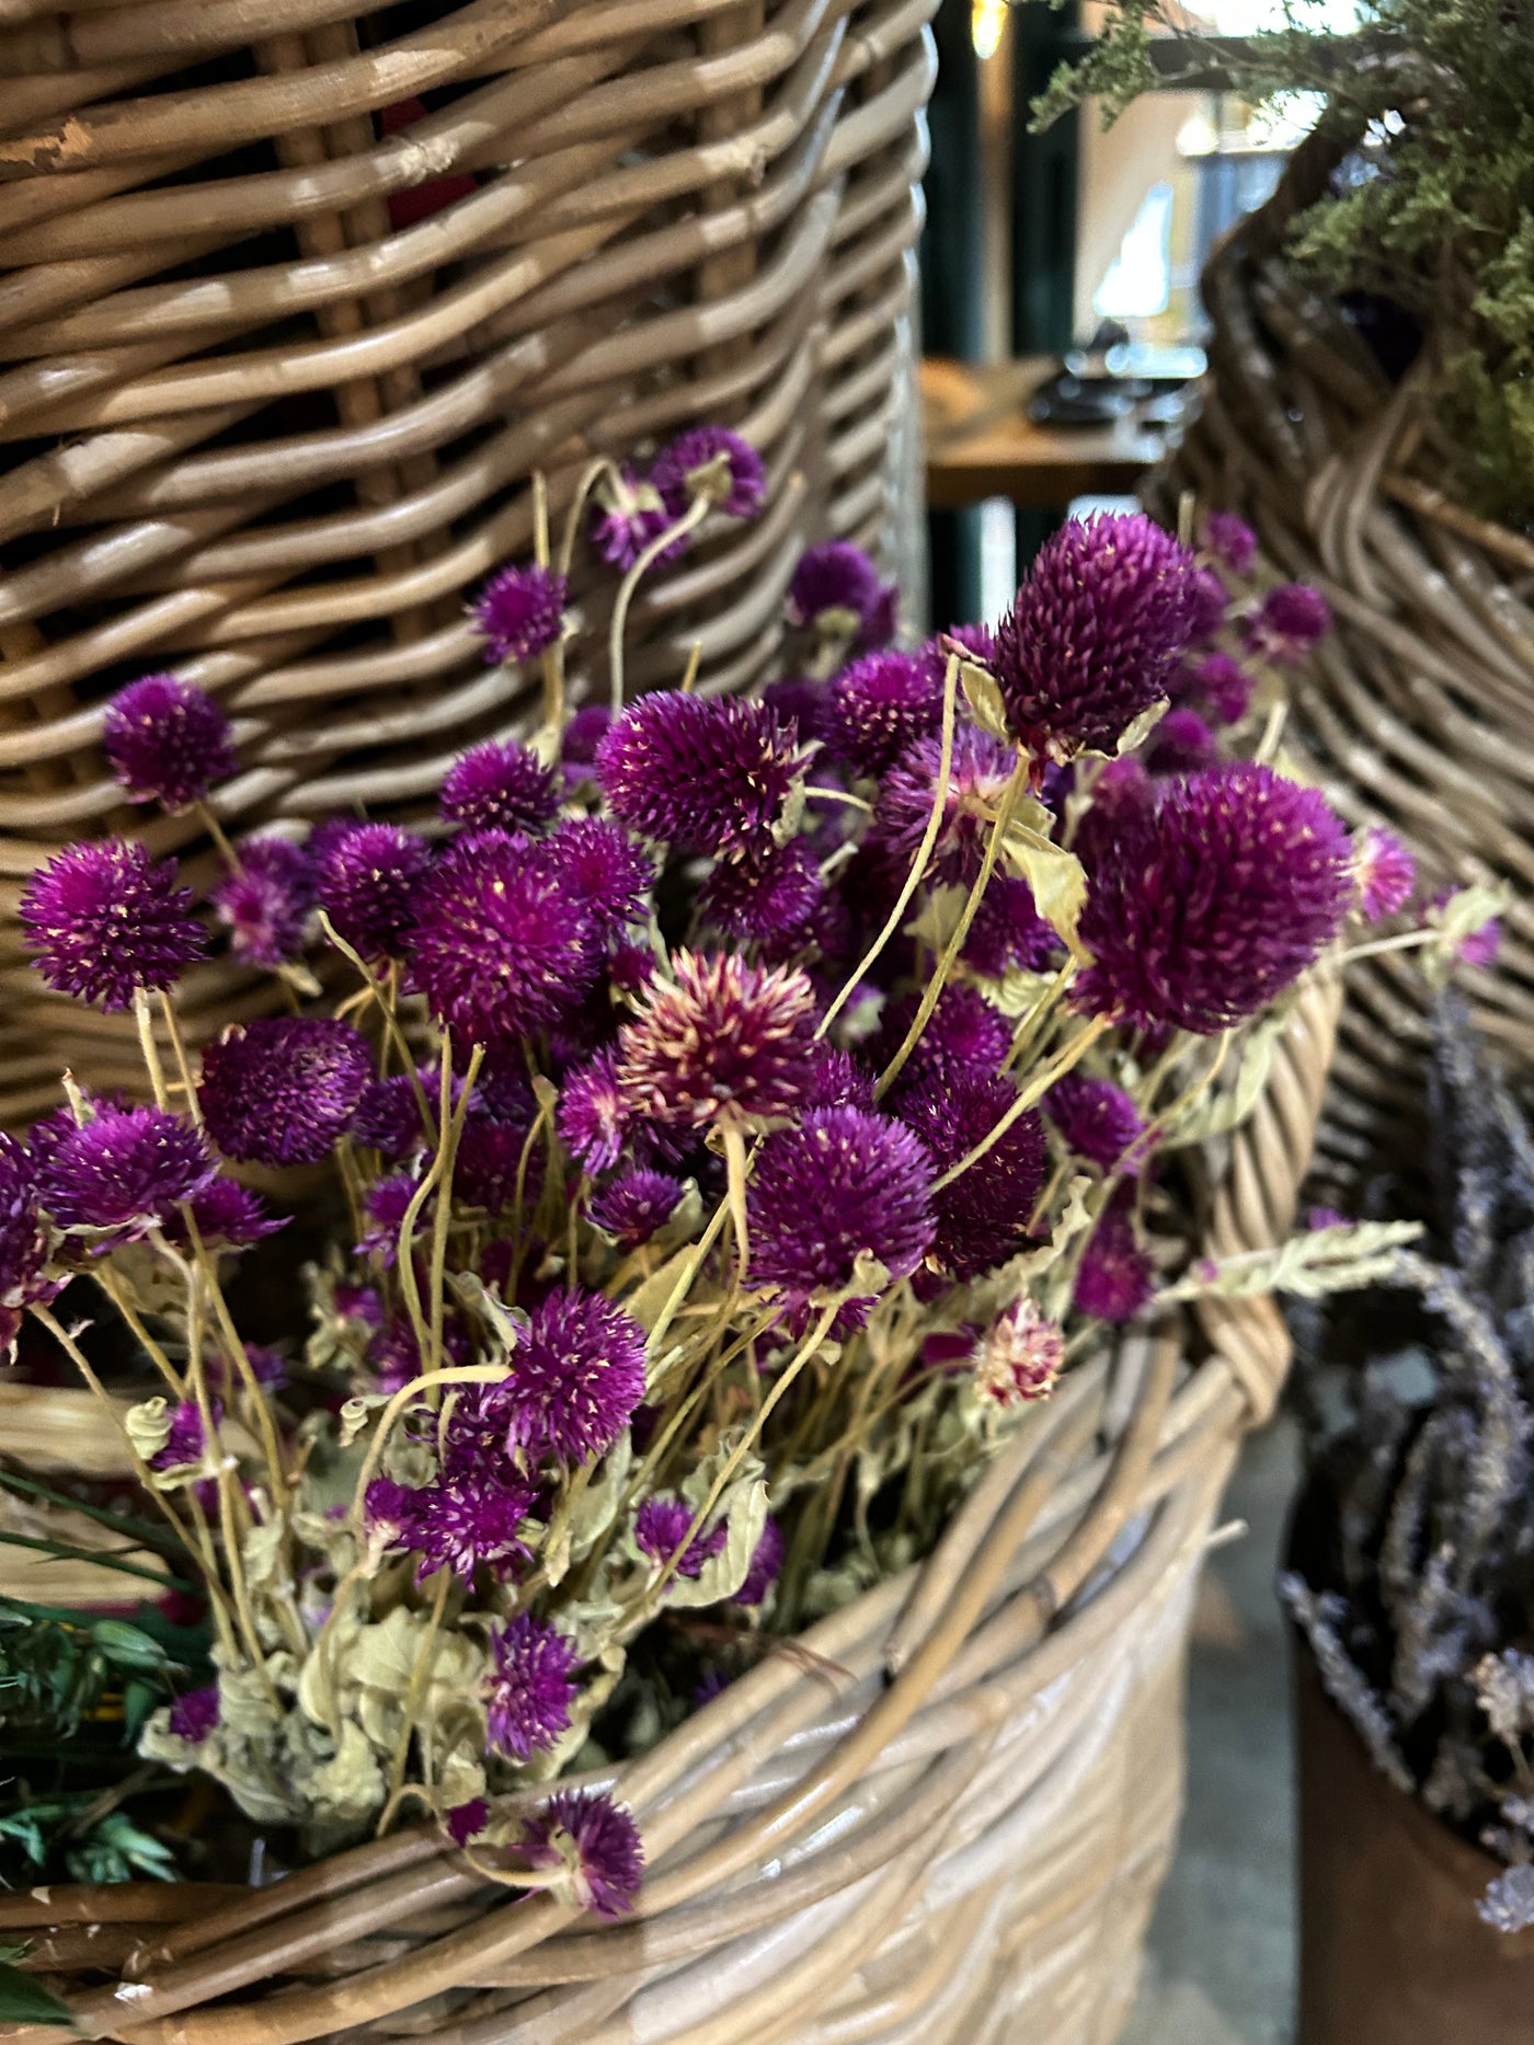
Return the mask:
<path fill-rule="evenodd" d="M 904 1086 L 896 1112 L 920 1137 L 941 1174 L 967 1157 L 1014 1102 L 1010 1080 L 949 1070 Z M 933 1194 L 937 1229 L 929 1264 L 955 1278 L 976 1278 L 1014 1256 L 1043 1190 L 1047 1155 L 1043 1123 L 1029 1110 L 965 1172 L 939 1186 Z"/>

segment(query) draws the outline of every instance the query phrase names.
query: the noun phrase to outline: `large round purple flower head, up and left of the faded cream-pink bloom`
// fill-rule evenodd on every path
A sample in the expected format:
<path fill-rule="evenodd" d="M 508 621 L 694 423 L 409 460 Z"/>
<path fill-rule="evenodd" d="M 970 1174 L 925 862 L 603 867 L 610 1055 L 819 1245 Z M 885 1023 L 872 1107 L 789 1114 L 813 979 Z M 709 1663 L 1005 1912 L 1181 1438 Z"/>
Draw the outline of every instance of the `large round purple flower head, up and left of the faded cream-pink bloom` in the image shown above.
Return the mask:
<path fill-rule="evenodd" d="M 597 939 L 552 845 L 483 830 L 460 838 L 421 890 L 409 963 L 440 1022 L 495 1043 L 579 1006 L 601 969 Z"/>

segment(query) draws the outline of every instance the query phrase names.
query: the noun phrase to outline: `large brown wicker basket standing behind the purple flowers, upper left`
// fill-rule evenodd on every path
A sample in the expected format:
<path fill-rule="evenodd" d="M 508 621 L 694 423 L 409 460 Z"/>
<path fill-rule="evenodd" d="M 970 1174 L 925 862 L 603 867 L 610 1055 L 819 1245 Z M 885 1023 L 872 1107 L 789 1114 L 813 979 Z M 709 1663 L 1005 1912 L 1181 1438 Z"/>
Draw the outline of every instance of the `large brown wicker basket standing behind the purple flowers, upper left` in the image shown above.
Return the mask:
<path fill-rule="evenodd" d="M 235 714 L 231 826 L 407 814 L 522 722 L 464 599 L 530 550 L 532 468 L 558 513 L 679 425 L 763 450 L 761 519 L 636 607 L 638 683 L 702 642 L 749 685 L 810 538 L 892 562 L 935 6 L 0 0 L 0 1123 L 135 1065 L 14 928 L 41 857 L 133 828 L 123 681 Z M 194 824 L 145 836 L 207 877 Z M 188 1025 L 262 998 L 207 969 Z"/>

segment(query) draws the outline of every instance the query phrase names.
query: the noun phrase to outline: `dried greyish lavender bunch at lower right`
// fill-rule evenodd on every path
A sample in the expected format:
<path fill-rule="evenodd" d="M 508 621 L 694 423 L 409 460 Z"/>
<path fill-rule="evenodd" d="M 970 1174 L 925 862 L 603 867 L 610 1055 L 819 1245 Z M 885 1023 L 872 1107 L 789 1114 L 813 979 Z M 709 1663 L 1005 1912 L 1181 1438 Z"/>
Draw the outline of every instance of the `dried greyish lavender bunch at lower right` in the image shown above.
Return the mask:
<path fill-rule="evenodd" d="M 1481 1904 L 1534 1924 L 1534 1135 L 1442 996 L 1428 1247 L 1301 1342 L 1325 1526 L 1282 1593 L 1393 1781 L 1509 1863 Z M 1301 1534 L 1305 1521 L 1301 1521 Z"/>

